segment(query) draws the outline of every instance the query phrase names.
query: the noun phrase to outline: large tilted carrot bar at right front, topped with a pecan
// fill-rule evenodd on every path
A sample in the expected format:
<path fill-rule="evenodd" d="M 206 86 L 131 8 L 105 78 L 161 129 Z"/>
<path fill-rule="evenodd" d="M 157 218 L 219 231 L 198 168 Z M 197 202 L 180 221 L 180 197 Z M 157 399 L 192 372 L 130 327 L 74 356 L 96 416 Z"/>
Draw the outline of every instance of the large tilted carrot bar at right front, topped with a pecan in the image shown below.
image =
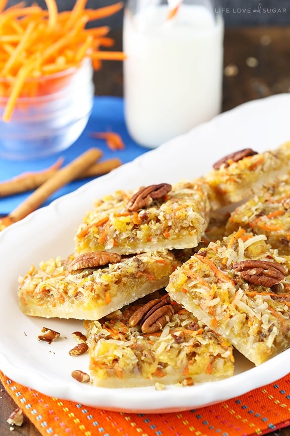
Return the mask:
<path fill-rule="evenodd" d="M 290 346 L 290 258 L 240 229 L 170 276 L 170 297 L 256 365 Z"/>

